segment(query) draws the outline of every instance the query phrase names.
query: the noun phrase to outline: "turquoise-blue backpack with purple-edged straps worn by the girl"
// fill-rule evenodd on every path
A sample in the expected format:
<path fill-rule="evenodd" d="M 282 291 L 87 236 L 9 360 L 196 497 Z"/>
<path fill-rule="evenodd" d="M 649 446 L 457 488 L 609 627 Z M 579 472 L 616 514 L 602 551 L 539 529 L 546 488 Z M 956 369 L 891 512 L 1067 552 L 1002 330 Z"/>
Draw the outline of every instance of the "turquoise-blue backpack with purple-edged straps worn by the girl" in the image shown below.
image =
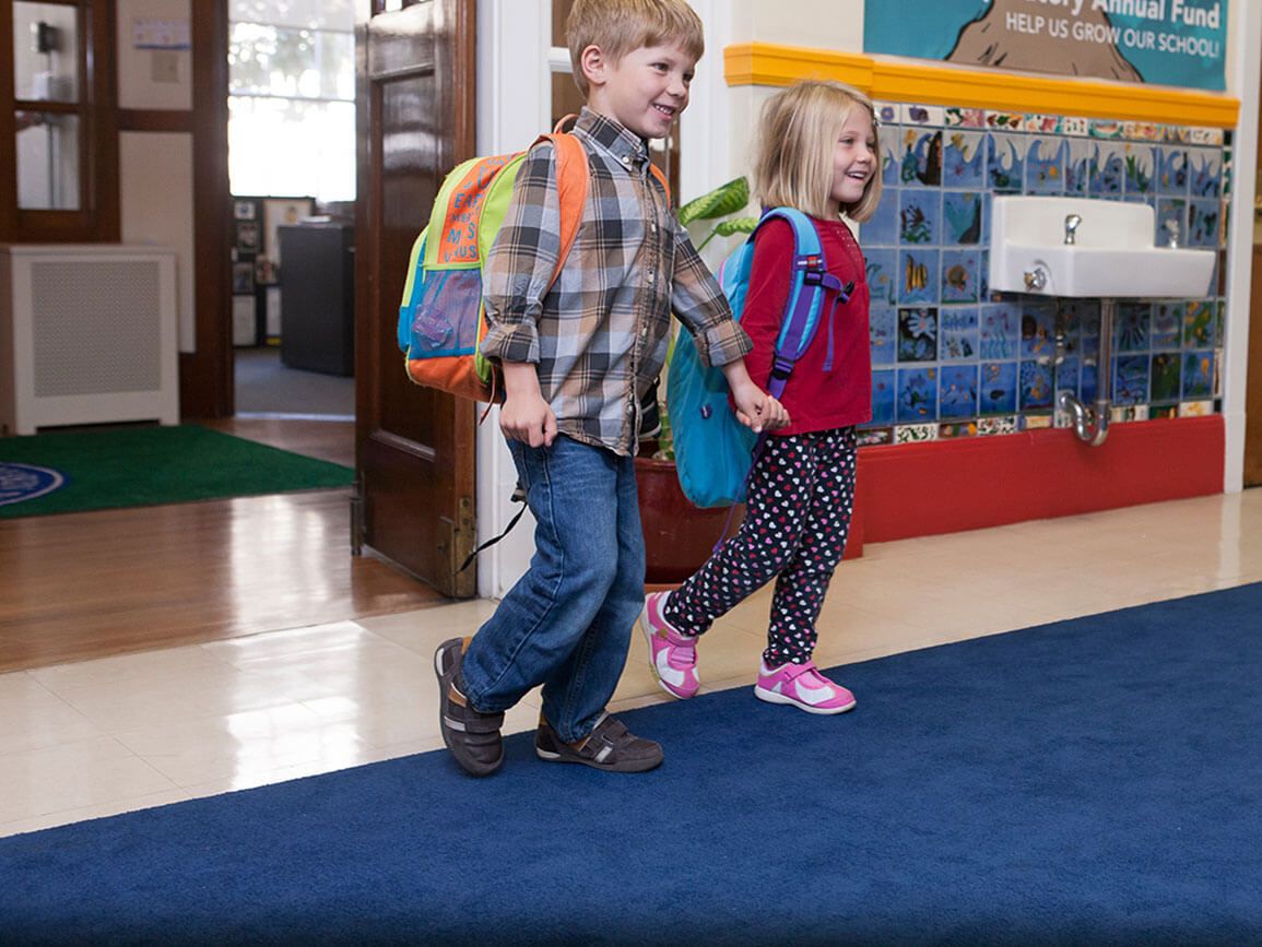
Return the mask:
<path fill-rule="evenodd" d="M 794 363 L 806 351 L 824 311 L 825 291 L 833 293 L 832 305 L 844 303 L 853 284 L 842 285 L 828 272 L 819 233 L 810 218 L 791 207 L 767 211 L 753 233 L 737 247 L 719 270 L 719 285 L 737 319 L 745 314 L 745 298 L 753 266 L 753 237 L 775 218 L 787 221 L 794 229 L 794 281 L 776 339 L 767 391 L 779 398 L 793 373 Z M 830 310 L 829 310 L 830 311 Z M 675 339 L 666 373 L 666 407 L 675 441 L 675 469 L 684 496 L 698 507 L 729 507 L 743 503 L 750 469 L 766 433 L 755 434 L 736 419 L 728 404 L 727 378 L 722 368 L 705 367 L 697 353 L 692 333 Z"/>

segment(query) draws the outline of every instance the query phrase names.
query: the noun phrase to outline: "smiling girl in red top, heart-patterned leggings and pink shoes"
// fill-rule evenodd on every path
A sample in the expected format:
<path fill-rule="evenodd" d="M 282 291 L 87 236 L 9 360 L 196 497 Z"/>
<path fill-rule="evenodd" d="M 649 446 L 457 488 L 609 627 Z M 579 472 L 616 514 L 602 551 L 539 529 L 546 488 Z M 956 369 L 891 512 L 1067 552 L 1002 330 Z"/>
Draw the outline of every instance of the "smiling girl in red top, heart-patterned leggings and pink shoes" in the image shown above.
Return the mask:
<path fill-rule="evenodd" d="M 663 690 L 692 697 L 697 638 L 716 618 L 776 579 L 767 647 L 753 692 L 811 714 L 840 714 L 854 695 L 811 661 L 815 619 L 842 560 L 854 499 L 854 426 L 871 417 L 868 288 L 863 255 L 840 219 L 872 217 L 881 198 L 876 116 L 862 92 L 800 82 L 767 101 L 755 164 L 765 207 L 795 207 L 819 232 L 829 272 L 853 282 L 798 359 L 781 404 L 791 419 L 766 440 L 750 475 L 745 522 L 675 591 L 647 596 L 640 623 Z M 741 325 L 753 339 L 750 376 L 766 387 L 791 286 L 793 229 L 772 219 L 755 236 Z M 833 303 L 825 299 L 825 313 Z"/>

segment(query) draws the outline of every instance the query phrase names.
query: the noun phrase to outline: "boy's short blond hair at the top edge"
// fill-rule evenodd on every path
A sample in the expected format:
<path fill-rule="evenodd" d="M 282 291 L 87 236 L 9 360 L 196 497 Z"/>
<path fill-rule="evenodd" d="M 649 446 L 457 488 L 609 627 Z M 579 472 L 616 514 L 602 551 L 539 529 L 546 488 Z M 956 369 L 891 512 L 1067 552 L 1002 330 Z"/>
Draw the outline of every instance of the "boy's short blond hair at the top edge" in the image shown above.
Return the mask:
<path fill-rule="evenodd" d="M 611 63 L 645 47 L 675 43 L 697 62 L 705 52 L 700 16 L 684 0 L 574 0 L 565 21 L 578 91 L 588 95 L 583 50 L 601 48 Z"/>

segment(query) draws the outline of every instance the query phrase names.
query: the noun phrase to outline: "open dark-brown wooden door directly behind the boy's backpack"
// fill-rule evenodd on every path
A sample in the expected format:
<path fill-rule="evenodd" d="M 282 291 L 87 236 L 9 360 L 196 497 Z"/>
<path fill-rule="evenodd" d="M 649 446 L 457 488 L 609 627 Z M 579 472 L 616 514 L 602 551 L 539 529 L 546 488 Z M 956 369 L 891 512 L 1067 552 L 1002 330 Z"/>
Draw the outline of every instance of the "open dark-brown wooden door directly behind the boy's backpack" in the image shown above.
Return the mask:
<path fill-rule="evenodd" d="M 413 0 L 360 24 L 353 542 L 472 596 L 475 405 L 411 385 L 395 340 L 413 240 L 473 154 L 475 0 Z"/>

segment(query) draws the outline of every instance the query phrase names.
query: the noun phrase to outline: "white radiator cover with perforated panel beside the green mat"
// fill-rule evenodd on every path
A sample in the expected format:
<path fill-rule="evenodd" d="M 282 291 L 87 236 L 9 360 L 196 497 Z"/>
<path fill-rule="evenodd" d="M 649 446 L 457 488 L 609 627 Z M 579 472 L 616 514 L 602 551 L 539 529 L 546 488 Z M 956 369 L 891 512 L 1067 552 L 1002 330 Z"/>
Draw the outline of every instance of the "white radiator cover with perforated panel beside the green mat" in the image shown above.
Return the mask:
<path fill-rule="evenodd" d="M 179 422 L 175 251 L 0 246 L 0 430 Z"/>

